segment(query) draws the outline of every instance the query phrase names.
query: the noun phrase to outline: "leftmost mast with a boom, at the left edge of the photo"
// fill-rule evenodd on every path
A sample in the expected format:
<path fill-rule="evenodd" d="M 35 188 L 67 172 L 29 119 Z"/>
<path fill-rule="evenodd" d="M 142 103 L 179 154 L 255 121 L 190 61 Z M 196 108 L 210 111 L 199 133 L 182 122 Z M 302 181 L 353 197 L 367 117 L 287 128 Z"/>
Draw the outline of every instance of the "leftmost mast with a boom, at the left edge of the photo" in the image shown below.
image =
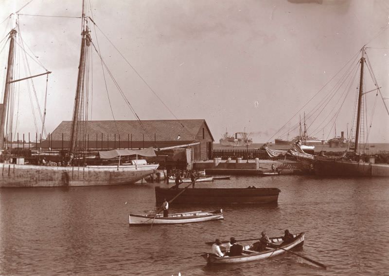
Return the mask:
<path fill-rule="evenodd" d="M 8 51 L 8 62 L 7 62 L 7 75 L 5 79 L 4 98 L 3 103 L 0 105 L 0 149 L 4 149 L 4 126 L 5 117 L 7 114 L 8 96 L 10 91 L 10 84 L 14 78 L 14 47 L 15 47 L 15 36 L 16 30 L 13 29 L 9 33 L 9 51 Z"/>

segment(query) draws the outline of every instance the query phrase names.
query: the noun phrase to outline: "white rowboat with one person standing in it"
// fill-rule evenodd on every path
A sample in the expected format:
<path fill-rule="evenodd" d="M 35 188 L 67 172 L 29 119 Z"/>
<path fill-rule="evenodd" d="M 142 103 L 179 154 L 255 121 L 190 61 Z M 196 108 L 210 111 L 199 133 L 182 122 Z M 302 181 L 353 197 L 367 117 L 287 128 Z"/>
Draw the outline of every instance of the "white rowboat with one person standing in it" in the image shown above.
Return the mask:
<path fill-rule="evenodd" d="M 155 217 L 155 218 L 154 218 Z M 209 220 L 224 219 L 223 209 L 215 211 L 193 211 L 184 213 L 169 214 L 164 217 L 162 214 L 129 214 L 128 222 L 130 225 L 144 224 L 179 224 L 190 222 L 202 222 Z"/>

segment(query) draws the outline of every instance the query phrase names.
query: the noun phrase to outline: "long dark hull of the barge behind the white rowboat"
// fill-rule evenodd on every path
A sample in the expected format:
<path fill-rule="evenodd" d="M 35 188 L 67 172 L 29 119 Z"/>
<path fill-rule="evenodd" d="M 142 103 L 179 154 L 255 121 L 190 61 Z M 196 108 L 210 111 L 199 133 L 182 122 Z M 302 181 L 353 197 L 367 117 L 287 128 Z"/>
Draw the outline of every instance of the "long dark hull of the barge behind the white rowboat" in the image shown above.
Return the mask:
<path fill-rule="evenodd" d="M 173 199 L 184 188 L 155 187 L 157 205 Z M 175 204 L 269 204 L 277 203 L 281 191 L 277 188 L 188 188 Z"/>

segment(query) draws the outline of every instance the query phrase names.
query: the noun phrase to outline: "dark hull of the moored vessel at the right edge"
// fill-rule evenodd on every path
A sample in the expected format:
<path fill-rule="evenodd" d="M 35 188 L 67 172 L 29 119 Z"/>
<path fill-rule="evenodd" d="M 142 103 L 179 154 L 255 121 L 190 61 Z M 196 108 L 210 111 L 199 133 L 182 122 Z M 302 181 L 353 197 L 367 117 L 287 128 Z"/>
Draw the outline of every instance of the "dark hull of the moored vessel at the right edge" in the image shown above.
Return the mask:
<path fill-rule="evenodd" d="M 346 160 L 317 160 L 314 162 L 314 170 L 319 176 L 389 176 L 389 164 Z"/>

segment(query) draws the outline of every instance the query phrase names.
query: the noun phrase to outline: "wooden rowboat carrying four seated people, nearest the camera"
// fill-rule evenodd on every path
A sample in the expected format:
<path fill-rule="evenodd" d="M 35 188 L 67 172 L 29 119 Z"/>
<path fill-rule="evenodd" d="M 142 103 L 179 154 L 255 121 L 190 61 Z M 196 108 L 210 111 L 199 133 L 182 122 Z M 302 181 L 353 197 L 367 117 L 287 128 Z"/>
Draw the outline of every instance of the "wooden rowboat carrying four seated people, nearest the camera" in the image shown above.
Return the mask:
<path fill-rule="evenodd" d="M 279 247 L 271 248 L 266 247 L 265 251 L 257 252 L 250 250 L 252 244 L 248 244 L 243 247 L 243 255 L 240 256 L 233 256 L 233 257 L 217 257 L 214 254 L 211 253 L 205 253 L 202 254 L 201 257 L 203 257 L 205 260 L 207 260 L 208 263 L 241 263 L 241 262 L 248 262 L 253 260 L 263 260 L 270 257 L 274 257 L 280 254 L 285 253 L 285 250 L 290 250 L 298 245 L 302 245 L 304 243 L 304 232 L 300 233 L 299 235 L 294 235 L 294 239 L 289 244 L 284 244 Z M 281 237 L 276 238 L 270 238 L 270 241 L 273 244 L 280 245 L 283 240 Z M 283 250 L 283 249 L 285 250 Z"/>

